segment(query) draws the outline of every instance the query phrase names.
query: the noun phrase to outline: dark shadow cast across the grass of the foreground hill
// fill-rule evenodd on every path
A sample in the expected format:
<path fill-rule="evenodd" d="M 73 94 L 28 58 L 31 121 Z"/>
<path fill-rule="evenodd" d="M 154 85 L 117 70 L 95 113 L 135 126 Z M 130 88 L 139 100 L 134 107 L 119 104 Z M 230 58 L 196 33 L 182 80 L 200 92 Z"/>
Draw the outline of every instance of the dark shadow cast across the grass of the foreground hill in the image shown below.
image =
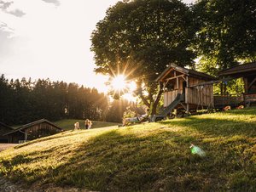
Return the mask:
<path fill-rule="evenodd" d="M 167 127 L 168 124 L 189 127 L 213 136 L 255 136 L 253 122 L 189 117 L 183 121 L 164 121 L 160 126 Z M 256 189 L 253 141 L 237 143 L 234 140 L 229 144 L 202 142 L 201 147 L 207 151 L 207 156 L 201 158 L 190 154 L 189 144 L 198 142 L 199 139 L 192 137 L 191 132 L 172 131 L 172 127 L 153 128 L 147 132 L 146 135 L 139 135 L 133 134 L 132 128 L 123 128 L 90 138 L 79 144 L 76 150 L 67 151 L 67 162 L 64 164 L 37 172 L 38 178 L 34 181 L 41 179 L 45 184 L 54 183 L 97 191 Z M 42 152 L 43 155 L 49 155 L 60 149 L 61 146 Z M 21 157 L 16 156 L 11 159 L 5 167 L 34 161 L 26 157 L 21 160 L 19 158 Z M 17 176 L 22 179 L 20 175 Z"/>

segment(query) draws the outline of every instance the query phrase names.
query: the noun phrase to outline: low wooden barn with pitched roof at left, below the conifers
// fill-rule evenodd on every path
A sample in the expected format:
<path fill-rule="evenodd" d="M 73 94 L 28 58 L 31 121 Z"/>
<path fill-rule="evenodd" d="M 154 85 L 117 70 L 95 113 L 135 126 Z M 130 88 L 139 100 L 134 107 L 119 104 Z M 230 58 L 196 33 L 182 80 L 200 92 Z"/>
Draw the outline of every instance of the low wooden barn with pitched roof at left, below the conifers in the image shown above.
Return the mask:
<path fill-rule="evenodd" d="M 38 121 L 33 121 L 26 125 L 23 125 L 9 133 L 3 134 L 8 137 L 9 143 L 24 143 L 29 140 L 36 138 L 43 138 L 55 133 L 60 133 L 62 129 L 57 127 L 50 121 L 41 119 Z"/>

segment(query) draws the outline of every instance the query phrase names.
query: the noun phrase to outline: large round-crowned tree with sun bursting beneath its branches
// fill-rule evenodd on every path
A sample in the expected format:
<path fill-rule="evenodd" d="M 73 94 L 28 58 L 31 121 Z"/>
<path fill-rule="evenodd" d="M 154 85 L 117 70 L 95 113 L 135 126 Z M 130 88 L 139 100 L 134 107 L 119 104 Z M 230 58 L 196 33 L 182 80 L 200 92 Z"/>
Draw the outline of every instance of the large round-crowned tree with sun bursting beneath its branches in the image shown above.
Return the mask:
<path fill-rule="evenodd" d="M 137 94 L 155 114 L 163 86 L 154 79 L 171 63 L 193 65 L 194 35 L 192 14 L 180 1 L 116 3 L 91 35 L 96 72 L 136 80 Z"/>

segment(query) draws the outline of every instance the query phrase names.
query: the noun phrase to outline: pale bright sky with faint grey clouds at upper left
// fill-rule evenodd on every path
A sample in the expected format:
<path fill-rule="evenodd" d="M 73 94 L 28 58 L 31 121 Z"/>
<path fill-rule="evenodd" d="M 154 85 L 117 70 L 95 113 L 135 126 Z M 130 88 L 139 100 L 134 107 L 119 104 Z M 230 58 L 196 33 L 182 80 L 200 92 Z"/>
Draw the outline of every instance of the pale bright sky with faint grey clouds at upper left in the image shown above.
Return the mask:
<path fill-rule="evenodd" d="M 118 0 L 0 0 L 0 74 L 49 78 L 106 92 L 90 34 Z M 191 3 L 193 0 L 183 0 Z"/>

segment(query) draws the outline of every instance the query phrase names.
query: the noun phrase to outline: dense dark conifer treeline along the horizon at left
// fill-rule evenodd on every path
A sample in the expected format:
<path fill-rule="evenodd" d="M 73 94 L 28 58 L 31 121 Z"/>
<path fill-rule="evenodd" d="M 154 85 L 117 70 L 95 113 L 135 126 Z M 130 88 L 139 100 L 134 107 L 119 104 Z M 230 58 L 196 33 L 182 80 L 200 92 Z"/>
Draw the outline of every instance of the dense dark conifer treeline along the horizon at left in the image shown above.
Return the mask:
<path fill-rule="evenodd" d="M 8 80 L 0 77 L 0 121 L 20 125 L 38 119 L 56 121 L 65 118 L 96 121 L 122 119 L 128 101 L 109 103 L 108 96 L 96 88 L 77 83 L 51 82 L 49 79 Z M 113 113 L 114 111 L 114 113 Z"/>

